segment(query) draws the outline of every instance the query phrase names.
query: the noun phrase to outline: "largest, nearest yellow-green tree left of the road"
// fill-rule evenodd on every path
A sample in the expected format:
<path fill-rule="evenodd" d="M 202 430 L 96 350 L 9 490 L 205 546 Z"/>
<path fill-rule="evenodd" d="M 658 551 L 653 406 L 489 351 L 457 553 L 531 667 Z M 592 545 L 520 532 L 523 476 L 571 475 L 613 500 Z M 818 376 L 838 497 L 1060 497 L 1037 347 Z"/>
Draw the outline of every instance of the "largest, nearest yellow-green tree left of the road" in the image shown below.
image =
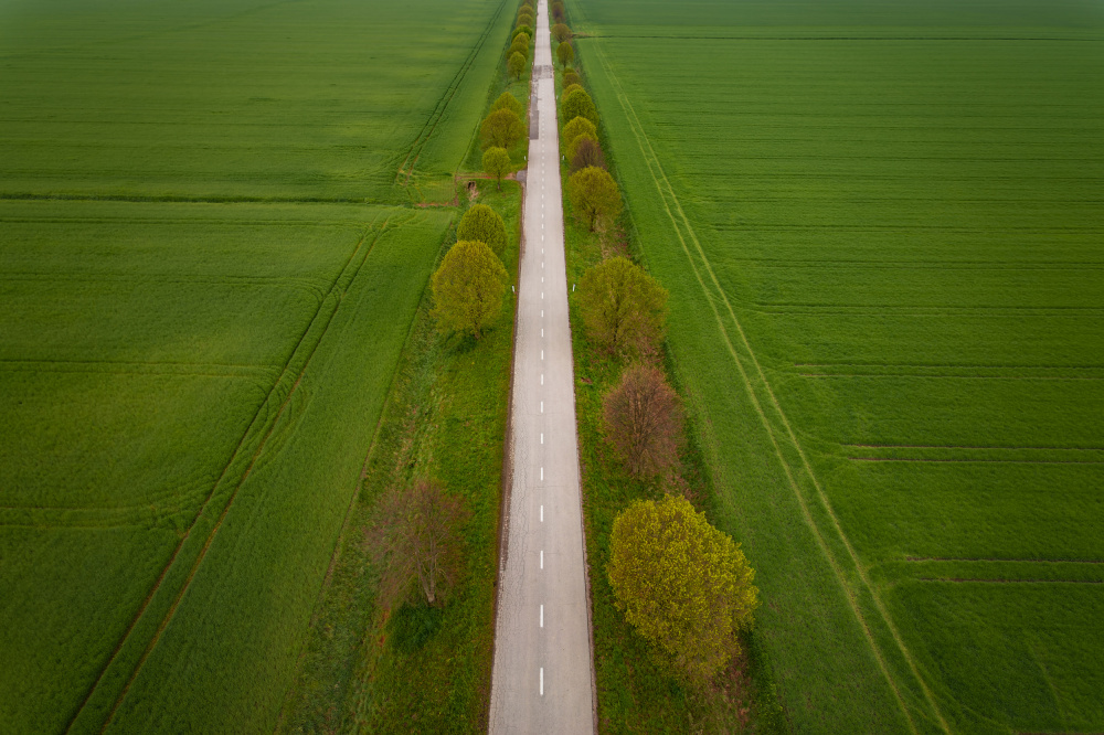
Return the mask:
<path fill-rule="evenodd" d="M 502 310 L 508 278 L 502 262 L 486 243 L 461 239 L 453 245 L 433 274 L 437 327 L 479 339 Z"/>

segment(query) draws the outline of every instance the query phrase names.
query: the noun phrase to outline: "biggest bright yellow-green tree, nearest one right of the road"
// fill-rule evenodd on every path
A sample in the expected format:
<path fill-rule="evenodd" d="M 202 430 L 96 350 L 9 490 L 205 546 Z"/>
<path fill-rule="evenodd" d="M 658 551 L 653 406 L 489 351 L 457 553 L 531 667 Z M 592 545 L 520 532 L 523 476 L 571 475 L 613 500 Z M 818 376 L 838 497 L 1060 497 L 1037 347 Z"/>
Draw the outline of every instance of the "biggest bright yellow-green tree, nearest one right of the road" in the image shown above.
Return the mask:
<path fill-rule="evenodd" d="M 638 500 L 614 520 L 606 567 L 617 608 L 657 660 L 707 684 L 740 652 L 758 607 L 740 545 L 681 496 Z"/>

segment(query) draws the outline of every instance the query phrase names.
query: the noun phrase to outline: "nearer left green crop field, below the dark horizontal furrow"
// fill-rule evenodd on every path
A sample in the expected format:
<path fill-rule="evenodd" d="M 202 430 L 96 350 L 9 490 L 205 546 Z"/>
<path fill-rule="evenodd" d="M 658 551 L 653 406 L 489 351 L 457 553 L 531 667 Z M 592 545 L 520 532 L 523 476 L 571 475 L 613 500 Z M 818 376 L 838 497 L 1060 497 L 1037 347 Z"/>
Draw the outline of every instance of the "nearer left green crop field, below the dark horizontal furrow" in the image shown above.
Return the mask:
<path fill-rule="evenodd" d="M 449 217 L 142 205 L 131 251 L 125 206 L 3 205 L 3 718 L 270 728 Z"/>

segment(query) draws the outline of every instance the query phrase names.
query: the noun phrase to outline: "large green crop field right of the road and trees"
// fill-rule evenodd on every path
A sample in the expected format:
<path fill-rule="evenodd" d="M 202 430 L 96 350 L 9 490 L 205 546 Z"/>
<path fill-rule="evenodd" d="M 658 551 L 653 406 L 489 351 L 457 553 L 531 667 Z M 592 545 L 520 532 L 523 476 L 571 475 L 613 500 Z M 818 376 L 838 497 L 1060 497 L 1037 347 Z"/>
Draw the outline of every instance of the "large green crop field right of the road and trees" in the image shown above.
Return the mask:
<path fill-rule="evenodd" d="M 1104 731 L 1104 9 L 569 12 L 795 729 Z"/>

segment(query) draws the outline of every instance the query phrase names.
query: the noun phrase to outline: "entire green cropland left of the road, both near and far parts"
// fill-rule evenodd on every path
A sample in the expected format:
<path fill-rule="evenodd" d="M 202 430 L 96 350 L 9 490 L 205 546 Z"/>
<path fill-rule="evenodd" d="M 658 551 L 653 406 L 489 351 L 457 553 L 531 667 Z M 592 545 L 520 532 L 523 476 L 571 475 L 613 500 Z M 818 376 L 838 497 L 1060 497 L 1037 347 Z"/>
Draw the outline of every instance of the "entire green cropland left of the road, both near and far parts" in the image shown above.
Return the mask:
<path fill-rule="evenodd" d="M 0 729 L 274 729 L 512 20 L 0 0 Z"/>

